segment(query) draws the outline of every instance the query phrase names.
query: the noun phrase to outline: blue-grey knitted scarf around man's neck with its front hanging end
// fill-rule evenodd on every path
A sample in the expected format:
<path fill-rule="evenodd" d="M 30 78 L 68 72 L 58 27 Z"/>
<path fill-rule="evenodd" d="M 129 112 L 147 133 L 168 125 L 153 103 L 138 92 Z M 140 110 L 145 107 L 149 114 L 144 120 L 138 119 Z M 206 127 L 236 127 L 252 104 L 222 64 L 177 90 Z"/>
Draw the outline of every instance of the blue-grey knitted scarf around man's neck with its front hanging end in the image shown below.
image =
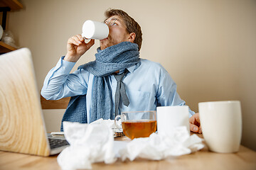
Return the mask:
<path fill-rule="evenodd" d="M 132 42 L 121 42 L 117 45 L 107 47 L 105 50 L 97 48 L 96 60 L 81 65 L 95 75 L 92 87 L 92 114 L 90 122 L 103 118 L 114 119 L 112 111 L 112 93 L 108 75 L 137 64 L 139 59 L 139 47 Z"/>

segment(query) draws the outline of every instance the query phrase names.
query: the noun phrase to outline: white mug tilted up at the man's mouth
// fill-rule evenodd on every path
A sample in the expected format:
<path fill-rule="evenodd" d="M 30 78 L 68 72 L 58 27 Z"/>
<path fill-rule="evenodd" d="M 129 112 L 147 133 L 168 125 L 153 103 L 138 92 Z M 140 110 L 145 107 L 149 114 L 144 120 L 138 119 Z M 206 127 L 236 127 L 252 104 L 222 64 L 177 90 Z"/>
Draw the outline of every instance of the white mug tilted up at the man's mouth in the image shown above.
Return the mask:
<path fill-rule="evenodd" d="M 105 23 L 87 20 L 82 25 L 82 38 L 103 40 L 109 33 L 110 29 Z"/>

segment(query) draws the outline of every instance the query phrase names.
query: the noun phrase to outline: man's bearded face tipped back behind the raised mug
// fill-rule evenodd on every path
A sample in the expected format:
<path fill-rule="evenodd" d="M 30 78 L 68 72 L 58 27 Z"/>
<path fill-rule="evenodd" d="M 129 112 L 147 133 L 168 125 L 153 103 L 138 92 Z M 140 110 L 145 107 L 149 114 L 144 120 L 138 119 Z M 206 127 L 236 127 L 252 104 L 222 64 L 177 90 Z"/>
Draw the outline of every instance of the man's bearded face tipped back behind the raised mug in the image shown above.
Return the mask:
<path fill-rule="evenodd" d="M 115 20 L 114 25 L 110 26 L 110 34 L 107 38 L 104 40 L 100 40 L 100 50 L 104 50 L 107 47 L 110 47 L 112 45 L 117 45 L 120 42 L 128 41 L 129 33 L 127 32 L 127 29 L 125 27 L 125 23 L 119 16 L 112 16 L 110 18 L 107 18 L 105 23 L 110 21 L 112 19 Z"/>

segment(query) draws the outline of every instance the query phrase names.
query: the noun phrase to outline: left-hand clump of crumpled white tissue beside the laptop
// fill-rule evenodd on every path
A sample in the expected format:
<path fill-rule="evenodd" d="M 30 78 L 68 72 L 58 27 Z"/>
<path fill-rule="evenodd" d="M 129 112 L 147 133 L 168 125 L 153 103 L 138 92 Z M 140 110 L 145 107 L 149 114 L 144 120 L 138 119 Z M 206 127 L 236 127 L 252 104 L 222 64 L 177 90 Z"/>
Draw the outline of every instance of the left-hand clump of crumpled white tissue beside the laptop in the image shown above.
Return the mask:
<path fill-rule="evenodd" d="M 57 157 L 62 169 L 92 169 L 92 163 L 112 164 L 116 161 L 113 131 L 105 121 L 91 124 L 63 122 L 63 128 L 70 146 Z"/>

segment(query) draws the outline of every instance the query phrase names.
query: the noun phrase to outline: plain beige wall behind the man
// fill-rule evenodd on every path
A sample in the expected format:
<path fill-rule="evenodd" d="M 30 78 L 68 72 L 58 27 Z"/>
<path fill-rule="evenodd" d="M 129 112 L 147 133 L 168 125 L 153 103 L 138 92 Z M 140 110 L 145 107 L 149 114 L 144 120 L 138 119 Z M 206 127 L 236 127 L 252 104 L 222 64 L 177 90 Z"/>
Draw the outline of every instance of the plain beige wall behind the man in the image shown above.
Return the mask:
<path fill-rule="evenodd" d="M 25 8 L 9 13 L 8 28 L 33 54 L 38 89 L 85 20 L 121 8 L 142 26 L 141 57 L 168 70 L 193 111 L 201 101 L 241 101 L 242 144 L 256 150 L 256 1 L 20 1 Z M 98 45 L 74 69 L 94 60 Z"/>

